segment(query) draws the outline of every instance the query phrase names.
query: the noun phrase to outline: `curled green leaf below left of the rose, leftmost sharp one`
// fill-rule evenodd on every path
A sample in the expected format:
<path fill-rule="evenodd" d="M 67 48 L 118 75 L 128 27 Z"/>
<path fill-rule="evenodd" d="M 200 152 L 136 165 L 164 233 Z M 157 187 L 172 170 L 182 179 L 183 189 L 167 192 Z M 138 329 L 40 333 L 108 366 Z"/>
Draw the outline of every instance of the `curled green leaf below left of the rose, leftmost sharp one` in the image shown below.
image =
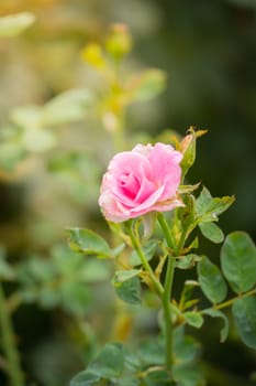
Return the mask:
<path fill-rule="evenodd" d="M 71 249 L 85 255 L 97 255 L 98 257 L 111 257 L 111 249 L 108 243 L 97 233 L 90 229 L 68 229 L 68 243 Z"/>

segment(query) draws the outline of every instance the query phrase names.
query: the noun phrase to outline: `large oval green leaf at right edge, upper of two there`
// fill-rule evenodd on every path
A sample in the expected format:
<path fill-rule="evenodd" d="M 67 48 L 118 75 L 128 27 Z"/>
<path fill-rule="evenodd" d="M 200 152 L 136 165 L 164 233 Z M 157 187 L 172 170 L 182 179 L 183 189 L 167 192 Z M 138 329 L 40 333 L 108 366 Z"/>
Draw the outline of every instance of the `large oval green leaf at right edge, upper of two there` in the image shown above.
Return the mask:
<path fill-rule="evenodd" d="M 233 232 L 226 237 L 221 249 L 221 266 L 236 293 L 256 285 L 256 247 L 246 233 Z"/>

